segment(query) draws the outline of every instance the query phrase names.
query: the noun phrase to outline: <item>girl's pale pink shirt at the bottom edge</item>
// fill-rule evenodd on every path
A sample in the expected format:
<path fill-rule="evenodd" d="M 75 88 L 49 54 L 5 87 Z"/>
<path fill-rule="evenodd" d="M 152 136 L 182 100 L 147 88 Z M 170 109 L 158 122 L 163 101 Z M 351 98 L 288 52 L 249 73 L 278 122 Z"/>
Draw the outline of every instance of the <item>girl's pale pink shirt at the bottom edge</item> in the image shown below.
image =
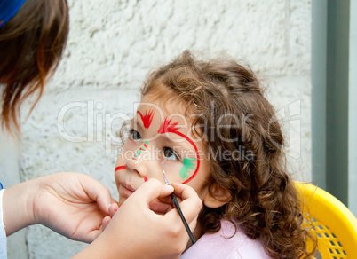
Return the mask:
<path fill-rule="evenodd" d="M 221 226 L 217 233 L 204 234 L 180 259 L 271 259 L 258 239 L 248 238 L 239 228 L 229 239 L 234 234 L 234 225 L 225 220 Z"/>

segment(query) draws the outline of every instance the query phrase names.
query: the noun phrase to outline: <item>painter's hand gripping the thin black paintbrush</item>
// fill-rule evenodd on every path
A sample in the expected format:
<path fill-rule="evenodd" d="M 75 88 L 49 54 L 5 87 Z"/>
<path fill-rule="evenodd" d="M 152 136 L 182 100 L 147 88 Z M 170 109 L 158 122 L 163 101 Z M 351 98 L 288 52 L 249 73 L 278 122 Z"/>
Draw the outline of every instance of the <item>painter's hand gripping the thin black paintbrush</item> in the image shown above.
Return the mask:
<path fill-rule="evenodd" d="M 74 258 L 178 258 L 189 239 L 178 211 L 159 215 L 149 208 L 152 200 L 171 192 L 171 186 L 149 179 L 125 200 L 99 238 Z M 202 201 L 184 184 L 175 184 L 175 194 L 182 199 L 180 207 L 194 230 Z"/>

